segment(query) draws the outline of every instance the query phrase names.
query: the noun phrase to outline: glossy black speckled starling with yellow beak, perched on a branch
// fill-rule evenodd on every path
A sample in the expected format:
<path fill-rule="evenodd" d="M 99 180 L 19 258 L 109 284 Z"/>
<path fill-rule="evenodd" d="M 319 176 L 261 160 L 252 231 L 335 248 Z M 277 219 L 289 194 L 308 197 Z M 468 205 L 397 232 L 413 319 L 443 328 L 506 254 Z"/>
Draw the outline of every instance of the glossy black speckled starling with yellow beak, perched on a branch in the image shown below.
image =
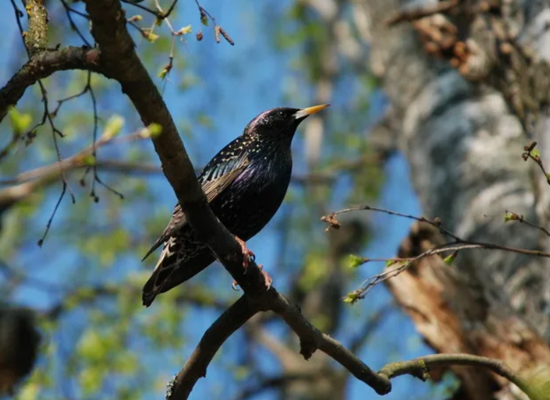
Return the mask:
<path fill-rule="evenodd" d="M 262 112 L 247 124 L 241 136 L 214 156 L 199 176 L 213 213 L 235 235 L 246 255 L 251 253 L 244 241 L 259 233 L 283 202 L 291 180 L 291 142 L 296 128 L 326 107 Z M 187 281 L 215 261 L 210 249 L 195 239 L 180 204 L 144 259 L 160 245 L 163 252 L 143 290 L 146 307 L 158 293 Z"/>

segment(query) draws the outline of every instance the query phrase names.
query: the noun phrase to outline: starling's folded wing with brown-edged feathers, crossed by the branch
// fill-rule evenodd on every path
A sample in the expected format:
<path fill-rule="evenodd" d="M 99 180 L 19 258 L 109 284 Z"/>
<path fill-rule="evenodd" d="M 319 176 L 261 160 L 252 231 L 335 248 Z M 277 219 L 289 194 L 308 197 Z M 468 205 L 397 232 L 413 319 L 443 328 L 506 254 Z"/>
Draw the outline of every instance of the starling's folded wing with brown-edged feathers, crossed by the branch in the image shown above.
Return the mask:
<path fill-rule="evenodd" d="M 235 163 L 233 163 L 233 165 L 230 165 L 230 168 L 226 167 L 224 170 L 216 170 L 213 171 L 213 173 L 209 173 L 209 180 L 204 180 L 204 177 L 206 175 L 203 173 L 201 177 L 199 177 L 199 180 L 202 181 L 202 191 L 206 196 L 206 201 L 211 203 L 213 199 L 216 199 L 216 197 L 221 192 L 223 192 L 223 190 L 225 190 L 229 186 L 229 184 L 233 182 L 243 170 L 245 170 L 248 165 L 250 165 L 250 160 L 248 160 L 247 157 L 243 156 L 236 159 Z M 158 247 L 160 247 L 160 245 L 162 245 L 163 242 L 165 242 L 168 237 L 170 237 L 170 235 L 177 232 L 177 230 L 180 230 L 185 225 L 187 225 L 187 218 L 185 218 L 185 214 L 183 213 L 182 208 L 178 203 L 174 208 L 172 218 L 170 218 L 170 223 L 168 223 L 168 226 L 164 230 L 163 234 L 160 235 L 158 240 L 156 240 L 154 245 L 151 247 L 151 249 L 149 249 L 147 254 L 145 254 L 145 257 L 141 259 L 141 261 L 144 261 L 144 259 L 149 257 L 149 255 L 156 249 L 158 249 Z"/>

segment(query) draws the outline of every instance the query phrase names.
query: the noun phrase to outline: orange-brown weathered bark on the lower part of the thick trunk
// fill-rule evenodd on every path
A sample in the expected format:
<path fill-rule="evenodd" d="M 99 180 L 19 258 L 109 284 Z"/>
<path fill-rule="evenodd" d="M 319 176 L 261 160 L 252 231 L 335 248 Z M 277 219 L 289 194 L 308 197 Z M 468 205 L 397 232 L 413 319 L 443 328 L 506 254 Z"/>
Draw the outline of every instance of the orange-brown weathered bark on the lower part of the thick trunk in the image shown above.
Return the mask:
<path fill-rule="evenodd" d="M 399 248 L 399 257 L 415 257 L 443 243 L 438 230 L 416 223 Z M 460 257 L 460 256 L 459 256 Z M 426 343 L 440 353 L 467 353 L 503 360 L 526 373 L 550 365 L 550 348 L 522 316 L 486 285 L 472 281 L 438 256 L 422 259 L 387 282 L 399 305 L 413 319 Z M 431 372 L 438 380 L 447 368 Z M 452 367 L 462 382 L 453 400 L 515 399 L 510 382 L 479 368 Z"/>

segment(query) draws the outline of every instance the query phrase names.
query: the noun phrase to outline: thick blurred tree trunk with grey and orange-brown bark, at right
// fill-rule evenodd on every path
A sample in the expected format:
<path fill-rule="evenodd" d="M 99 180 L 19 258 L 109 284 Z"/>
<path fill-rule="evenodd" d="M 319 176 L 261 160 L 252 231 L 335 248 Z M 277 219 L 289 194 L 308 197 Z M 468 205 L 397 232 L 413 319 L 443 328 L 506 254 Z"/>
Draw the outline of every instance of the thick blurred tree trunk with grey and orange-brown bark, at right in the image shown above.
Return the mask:
<path fill-rule="evenodd" d="M 468 76 L 460 69 L 461 76 L 444 59 L 426 54 L 408 23 L 387 27 L 385 21 L 405 6 L 404 1 L 357 4 L 370 22 L 370 65 L 391 100 L 394 140 L 409 160 L 424 215 L 438 216 L 445 228 L 464 239 L 548 249 L 544 233 L 519 223 L 503 223 L 506 209 L 537 225 L 548 222 L 550 187 L 538 166 L 521 158 L 523 146 L 532 139 L 539 142 L 543 162 L 548 153 L 544 132 L 548 93 L 535 90 L 534 67 L 525 63 L 520 70 L 530 81 L 506 81 L 513 71 L 495 57 L 496 40 L 478 40 L 481 53 L 490 61 L 484 67 L 488 75 L 481 74 L 484 78 L 479 81 L 480 75 Z M 435 3 L 416 1 L 414 6 L 426 4 Z M 548 33 L 541 26 L 548 10 L 540 1 L 512 2 L 510 7 L 516 7 L 514 12 L 503 11 L 501 19 L 514 30 L 514 45 L 544 64 Z M 484 31 L 472 21 L 479 22 L 462 20 L 464 26 L 459 28 L 479 36 Z M 518 102 L 508 90 L 515 84 L 534 102 L 527 107 Z M 546 90 L 544 79 L 539 86 Z M 404 242 L 403 254 L 418 254 L 426 245 L 423 240 L 421 230 L 413 231 Z M 435 258 L 426 259 L 390 281 L 392 292 L 428 343 L 440 352 L 493 356 L 519 368 L 548 364 L 550 353 L 542 339 L 549 328 L 548 260 L 471 251 L 460 253 L 455 264 L 450 268 Z M 496 394 L 504 382 L 491 375 L 455 372 L 464 394 L 457 394 L 457 399 L 509 396 L 506 391 Z"/>

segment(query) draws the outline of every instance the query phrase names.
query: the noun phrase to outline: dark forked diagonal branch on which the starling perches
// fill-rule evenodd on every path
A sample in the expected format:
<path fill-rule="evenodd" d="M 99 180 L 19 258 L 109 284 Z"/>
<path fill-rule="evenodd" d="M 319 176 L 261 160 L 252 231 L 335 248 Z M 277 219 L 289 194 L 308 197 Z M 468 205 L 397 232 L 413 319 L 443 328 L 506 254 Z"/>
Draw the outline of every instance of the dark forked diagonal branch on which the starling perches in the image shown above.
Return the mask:
<path fill-rule="evenodd" d="M 346 350 L 341 343 L 318 329 L 303 317 L 298 307 L 291 305 L 274 287 L 265 290 L 264 277 L 252 262 L 245 275 L 242 269 L 242 252 L 233 235 L 213 215 L 202 189 L 197 181 L 194 168 L 185 151 L 182 140 L 175 128 L 170 113 L 160 96 L 153 81 L 134 49 L 134 42 L 126 28 L 126 19 L 118 0 L 86 0 L 86 11 L 92 20 L 92 35 L 100 46 L 101 64 L 122 86 L 122 91 L 128 95 L 136 107 L 145 125 L 153 123 L 162 127 L 162 133 L 152 136 L 151 140 L 163 165 L 168 182 L 174 189 L 182 210 L 192 226 L 197 240 L 204 242 L 216 258 L 220 260 L 228 272 L 239 283 L 245 295 L 250 299 L 242 299 L 230 307 L 228 312 L 235 314 L 234 319 L 220 317 L 227 324 L 214 324 L 209 329 L 197 351 L 205 348 L 205 341 L 213 338 L 210 351 L 215 352 L 225 339 L 238 329 L 247 319 L 259 310 L 272 310 L 288 324 L 300 337 L 300 353 L 307 359 L 317 348 L 330 355 L 334 360 L 351 370 L 353 375 L 368 383 L 379 393 L 390 390 L 390 382 L 378 377 L 353 353 Z M 113 40 L 115 38 L 115 40 Z M 254 300 L 256 306 L 250 306 Z M 220 331 L 218 331 L 218 329 Z M 216 335 L 214 335 L 216 333 Z M 206 350 L 204 350 L 206 351 Z M 205 361 L 211 359 L 200 357 L 194 353 L 185 367 L 177 375 L 170 387 L 170 398 L 185 399 L 199 377 L 204 376 Z M 196 360 L 196 361 L 193 361 Z"/>

